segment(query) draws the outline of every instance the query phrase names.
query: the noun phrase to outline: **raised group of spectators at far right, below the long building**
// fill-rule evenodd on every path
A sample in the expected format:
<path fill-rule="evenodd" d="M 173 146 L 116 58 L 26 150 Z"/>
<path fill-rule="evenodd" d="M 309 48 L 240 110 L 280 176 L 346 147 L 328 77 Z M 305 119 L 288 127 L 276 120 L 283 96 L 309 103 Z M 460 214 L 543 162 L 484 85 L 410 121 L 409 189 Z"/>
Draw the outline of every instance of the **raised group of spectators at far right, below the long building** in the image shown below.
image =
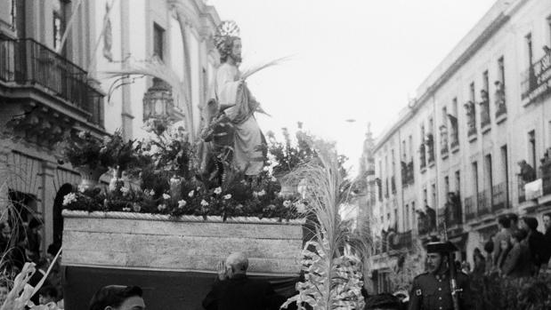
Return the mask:
<path fill-rule="evenodd" d="M 551 213 L 543 216 L 544 231 L 538 219 L 507 214 L 498 218 L 498 232 L 473 253 L 474 267 L 462 268 L 473 276 L 498 275 L 506 278 L 534 276 L 547 271 L 551 258 Z"/>

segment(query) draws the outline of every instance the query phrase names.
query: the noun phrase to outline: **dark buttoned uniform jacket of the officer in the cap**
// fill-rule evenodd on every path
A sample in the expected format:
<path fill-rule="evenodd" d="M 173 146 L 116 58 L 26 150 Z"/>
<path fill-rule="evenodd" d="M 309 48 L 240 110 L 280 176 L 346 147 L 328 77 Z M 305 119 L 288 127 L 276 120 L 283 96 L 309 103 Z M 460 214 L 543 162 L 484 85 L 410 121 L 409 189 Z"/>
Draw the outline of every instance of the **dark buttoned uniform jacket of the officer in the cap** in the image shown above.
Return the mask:
<path fill-rule="evenodd" d="M 460 309 L 473 309 L 468 276 L 458 272 L 457 283 L 458 288 L 463 290 L 458 293 Z M 409 293 L 409 310 L 453 310 L 450 291 L 449 270 L 438 275 L 419 274 L 413 279 Z"/>

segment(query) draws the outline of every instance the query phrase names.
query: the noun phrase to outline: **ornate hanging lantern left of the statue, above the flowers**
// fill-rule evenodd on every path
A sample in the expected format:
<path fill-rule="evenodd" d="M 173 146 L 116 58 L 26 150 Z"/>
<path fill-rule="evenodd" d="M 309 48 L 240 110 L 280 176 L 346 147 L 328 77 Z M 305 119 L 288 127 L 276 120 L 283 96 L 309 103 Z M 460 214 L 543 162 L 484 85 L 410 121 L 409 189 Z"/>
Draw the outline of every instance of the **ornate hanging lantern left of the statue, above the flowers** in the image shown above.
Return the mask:
<path fill-rule="evenodd" d="M 149 119 L 174 117 L 172 88 L 165 81 L 154 77 L 153 85 L 143 95 L 143 122 Z"/>

